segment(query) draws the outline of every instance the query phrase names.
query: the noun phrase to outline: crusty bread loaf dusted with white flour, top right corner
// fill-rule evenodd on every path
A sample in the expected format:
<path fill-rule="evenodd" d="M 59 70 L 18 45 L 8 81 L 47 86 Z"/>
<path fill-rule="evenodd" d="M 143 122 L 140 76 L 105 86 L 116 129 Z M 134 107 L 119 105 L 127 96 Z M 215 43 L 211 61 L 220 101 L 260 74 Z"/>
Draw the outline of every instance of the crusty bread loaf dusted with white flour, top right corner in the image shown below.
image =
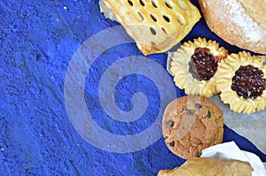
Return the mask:
<path fill-rule="evenodd" d="M 266 0 L 199 0 L 207 26 L 225 42 L 266 54 Z"/>

